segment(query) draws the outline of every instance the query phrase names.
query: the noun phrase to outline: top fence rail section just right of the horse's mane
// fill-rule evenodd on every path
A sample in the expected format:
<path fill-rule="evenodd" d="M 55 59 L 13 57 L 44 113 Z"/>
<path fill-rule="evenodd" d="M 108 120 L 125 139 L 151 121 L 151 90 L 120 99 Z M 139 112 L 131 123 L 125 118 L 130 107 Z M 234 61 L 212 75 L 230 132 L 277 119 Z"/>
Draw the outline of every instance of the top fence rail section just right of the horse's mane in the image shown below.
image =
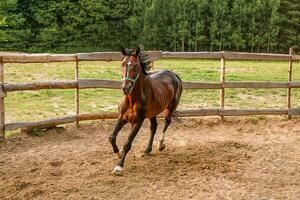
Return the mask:
<path fill-rule="evenodd" d="M 213 59 L 222 58 L 222 52 L 162 52 L 162 58 L 170 59 Z"/>

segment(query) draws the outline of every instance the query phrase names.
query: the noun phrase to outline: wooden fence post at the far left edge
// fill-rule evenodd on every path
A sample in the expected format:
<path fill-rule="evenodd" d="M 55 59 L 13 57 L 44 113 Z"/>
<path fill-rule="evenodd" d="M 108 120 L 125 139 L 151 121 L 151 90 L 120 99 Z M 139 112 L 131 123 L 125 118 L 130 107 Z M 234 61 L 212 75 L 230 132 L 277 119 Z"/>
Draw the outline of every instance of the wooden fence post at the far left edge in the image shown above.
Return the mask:
<path fill-rule="evenodd" d="M 3 59 L 0 57 L 0 140 L 5 139 L 5 104 L 4 98 L 5 93 L 3 91 L 3 83 L 4 83 L 4 64 Z"/>

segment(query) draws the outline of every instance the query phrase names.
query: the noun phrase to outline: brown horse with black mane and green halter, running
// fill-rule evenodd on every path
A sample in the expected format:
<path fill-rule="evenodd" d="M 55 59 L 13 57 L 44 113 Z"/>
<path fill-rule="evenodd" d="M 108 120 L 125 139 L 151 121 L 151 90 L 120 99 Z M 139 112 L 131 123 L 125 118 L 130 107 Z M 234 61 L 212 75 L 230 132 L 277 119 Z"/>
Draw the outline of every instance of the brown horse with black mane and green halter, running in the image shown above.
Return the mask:
<path fill-rule="evenodd" d="M 159 150 L 162 151 L 165 148 L 165 132 L 171 119 L 176 119 L 175 111 L 182 93 L 182 82 L 175 73 L 167 70 L 146 72 L 149 63 L 147 62 L 148 56 L 140 52 L 139 47 L 134 50 L 122 48 L 122 54 L 124 56 L 122 60 L 122 90 L 124 95 L 119 104 L 119 118 L 109 137 L 113 152 L 120 158 L 113 171 L 116 175 L 121 175 L 124 160 L 131 149 L 132 141 L 146 118 L 149 118 L 151 122 L 151 135 L 145 154 L 150 154 L 157 129 L 156 116 L 163 111 L 165 113 L 165 125 Z M 119 151 L 116 137 L 121 128 L 128 122 L 131 123 L 132 129 L 123 150 Z"/>

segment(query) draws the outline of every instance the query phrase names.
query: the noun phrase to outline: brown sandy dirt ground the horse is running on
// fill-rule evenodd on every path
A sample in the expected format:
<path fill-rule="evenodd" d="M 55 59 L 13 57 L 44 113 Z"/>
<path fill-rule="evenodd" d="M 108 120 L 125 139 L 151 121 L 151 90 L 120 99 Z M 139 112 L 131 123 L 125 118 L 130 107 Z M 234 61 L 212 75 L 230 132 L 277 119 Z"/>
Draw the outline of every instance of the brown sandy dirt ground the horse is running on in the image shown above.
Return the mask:
<path fill-rule="evenodd" d="M 146 122 L 124 174 L 108 135 L 114 121 L 16 135 L 0 143 L 0 199 L 300 199 L 300 119 L 186 118 L 172 123 L 166 150 L 142 156 Z M 129 126 L 120 133 L 126 139 Z"/>

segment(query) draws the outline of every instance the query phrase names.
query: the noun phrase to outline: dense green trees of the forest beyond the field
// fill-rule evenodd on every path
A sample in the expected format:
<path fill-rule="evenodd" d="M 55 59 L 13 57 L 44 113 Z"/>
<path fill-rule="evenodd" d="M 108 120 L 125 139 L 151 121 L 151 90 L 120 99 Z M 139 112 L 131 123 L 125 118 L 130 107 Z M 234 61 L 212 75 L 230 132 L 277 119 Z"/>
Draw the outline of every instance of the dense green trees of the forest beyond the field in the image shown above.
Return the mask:
<path fill-rule="evenodd" d="M 0 51 L 288 53 L 300 0 L 1 0 Z"/>

